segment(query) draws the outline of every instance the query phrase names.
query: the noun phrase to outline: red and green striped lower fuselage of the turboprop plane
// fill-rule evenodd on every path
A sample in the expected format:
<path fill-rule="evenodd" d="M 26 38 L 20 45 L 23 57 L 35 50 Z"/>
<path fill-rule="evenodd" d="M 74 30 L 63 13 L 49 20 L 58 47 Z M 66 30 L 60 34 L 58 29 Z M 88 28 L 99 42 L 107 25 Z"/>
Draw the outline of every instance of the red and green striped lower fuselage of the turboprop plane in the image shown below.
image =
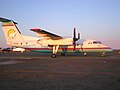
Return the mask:
<path fill-rule="evenodd" d="M 33 47 L 33 48 L 26 48 L 27 50 L 31 50 L 31 51 L 36 51 L 36 52 L 42 52 L 42 53 L 52 53 L 53 52 L 53 48 L 52 47 Z M 80 46 L 76 46 L 76 50 L 74 50 L 74 46 L 61 46 L 58 49 L 58 53 L 72 53 L 72 52 L 76 52 L 76 53 L 81 53 L 81 52 L 110 52 L 111 49 L 110 48 L 88 48 L 88 47 L 80 47 Z"/>

